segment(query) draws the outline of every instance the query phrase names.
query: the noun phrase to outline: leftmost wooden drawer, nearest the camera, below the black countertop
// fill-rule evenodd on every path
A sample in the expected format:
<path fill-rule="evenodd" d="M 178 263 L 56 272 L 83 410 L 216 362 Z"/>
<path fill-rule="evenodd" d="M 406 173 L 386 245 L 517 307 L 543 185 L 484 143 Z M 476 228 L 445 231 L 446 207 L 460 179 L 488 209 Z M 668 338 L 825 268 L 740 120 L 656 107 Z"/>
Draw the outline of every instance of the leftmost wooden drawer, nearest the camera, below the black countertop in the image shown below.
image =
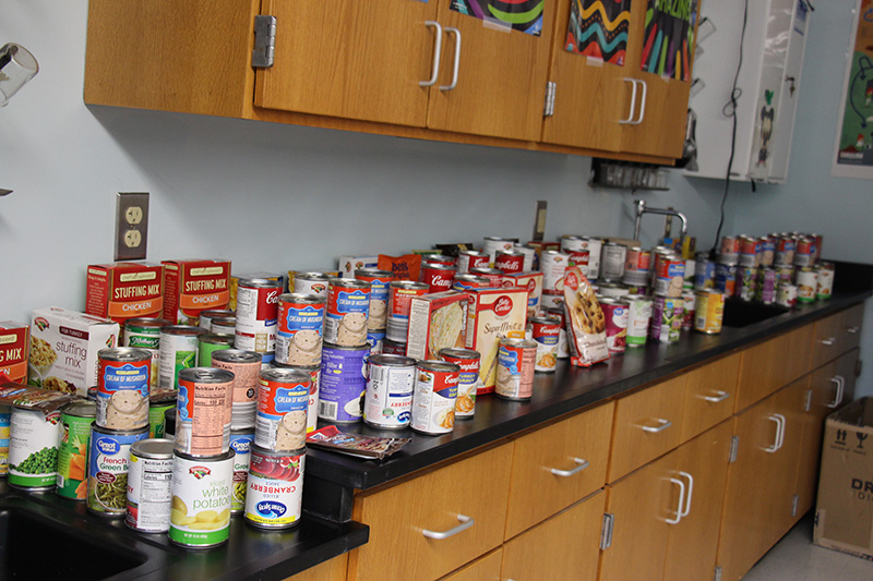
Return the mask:
<path fill-rule="evenodd" d="M 370 525 L 370 541 L 349 553 L 348 578 L 435 579 L 500 545 L 511 465 L 504 444 L 356 496 L 352 518 Z"/>

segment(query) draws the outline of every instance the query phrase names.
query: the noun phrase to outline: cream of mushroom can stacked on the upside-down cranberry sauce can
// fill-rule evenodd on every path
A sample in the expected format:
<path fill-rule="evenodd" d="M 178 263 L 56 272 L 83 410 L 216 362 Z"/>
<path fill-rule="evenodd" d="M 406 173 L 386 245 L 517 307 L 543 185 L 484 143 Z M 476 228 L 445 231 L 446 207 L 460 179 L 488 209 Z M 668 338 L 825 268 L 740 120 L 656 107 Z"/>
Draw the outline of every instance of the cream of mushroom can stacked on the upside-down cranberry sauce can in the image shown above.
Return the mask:
<path fill-rule="evenodd" d="M 307 439 L 307 410 L 312 377 L 297 370 L 261 372 L 254 443 L 271 451 L 302 448 Z"/>

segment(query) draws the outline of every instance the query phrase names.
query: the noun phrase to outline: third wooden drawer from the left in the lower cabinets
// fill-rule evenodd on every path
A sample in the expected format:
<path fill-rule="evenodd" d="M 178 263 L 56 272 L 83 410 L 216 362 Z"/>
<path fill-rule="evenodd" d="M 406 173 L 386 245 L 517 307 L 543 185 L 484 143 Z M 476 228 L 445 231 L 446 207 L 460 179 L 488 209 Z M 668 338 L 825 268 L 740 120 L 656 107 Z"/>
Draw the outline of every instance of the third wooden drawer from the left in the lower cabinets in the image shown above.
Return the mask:
<path fill-rule="evenodd" d="M 679 446 L 685 388 L 685 376 L 681 375 L 615 403 L 607 482 L 614 482 Z"/>

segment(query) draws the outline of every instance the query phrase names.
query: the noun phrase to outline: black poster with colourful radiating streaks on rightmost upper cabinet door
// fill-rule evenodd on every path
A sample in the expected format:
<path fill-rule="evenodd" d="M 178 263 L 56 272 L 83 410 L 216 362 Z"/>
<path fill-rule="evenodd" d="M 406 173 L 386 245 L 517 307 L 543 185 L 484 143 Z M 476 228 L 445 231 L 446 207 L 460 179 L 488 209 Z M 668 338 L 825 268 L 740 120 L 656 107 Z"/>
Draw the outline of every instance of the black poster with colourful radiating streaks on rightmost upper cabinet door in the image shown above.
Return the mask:
<path fill-rule="evenodd" d="M 648 0 L 642 69 L 691 81 L 697 0 Z"/>

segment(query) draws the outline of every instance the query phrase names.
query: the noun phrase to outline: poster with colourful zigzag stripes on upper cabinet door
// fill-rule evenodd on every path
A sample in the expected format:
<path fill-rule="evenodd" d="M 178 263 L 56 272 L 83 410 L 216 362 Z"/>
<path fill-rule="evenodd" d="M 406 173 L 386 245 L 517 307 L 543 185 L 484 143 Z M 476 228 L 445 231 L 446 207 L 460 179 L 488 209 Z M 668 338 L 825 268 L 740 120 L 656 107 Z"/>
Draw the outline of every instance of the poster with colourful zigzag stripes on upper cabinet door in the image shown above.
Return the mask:
<path fill-rule="evenodd" d="M 564 47 L 623 66 L 630 20 L 631 0 L 572 0 Z"/>

